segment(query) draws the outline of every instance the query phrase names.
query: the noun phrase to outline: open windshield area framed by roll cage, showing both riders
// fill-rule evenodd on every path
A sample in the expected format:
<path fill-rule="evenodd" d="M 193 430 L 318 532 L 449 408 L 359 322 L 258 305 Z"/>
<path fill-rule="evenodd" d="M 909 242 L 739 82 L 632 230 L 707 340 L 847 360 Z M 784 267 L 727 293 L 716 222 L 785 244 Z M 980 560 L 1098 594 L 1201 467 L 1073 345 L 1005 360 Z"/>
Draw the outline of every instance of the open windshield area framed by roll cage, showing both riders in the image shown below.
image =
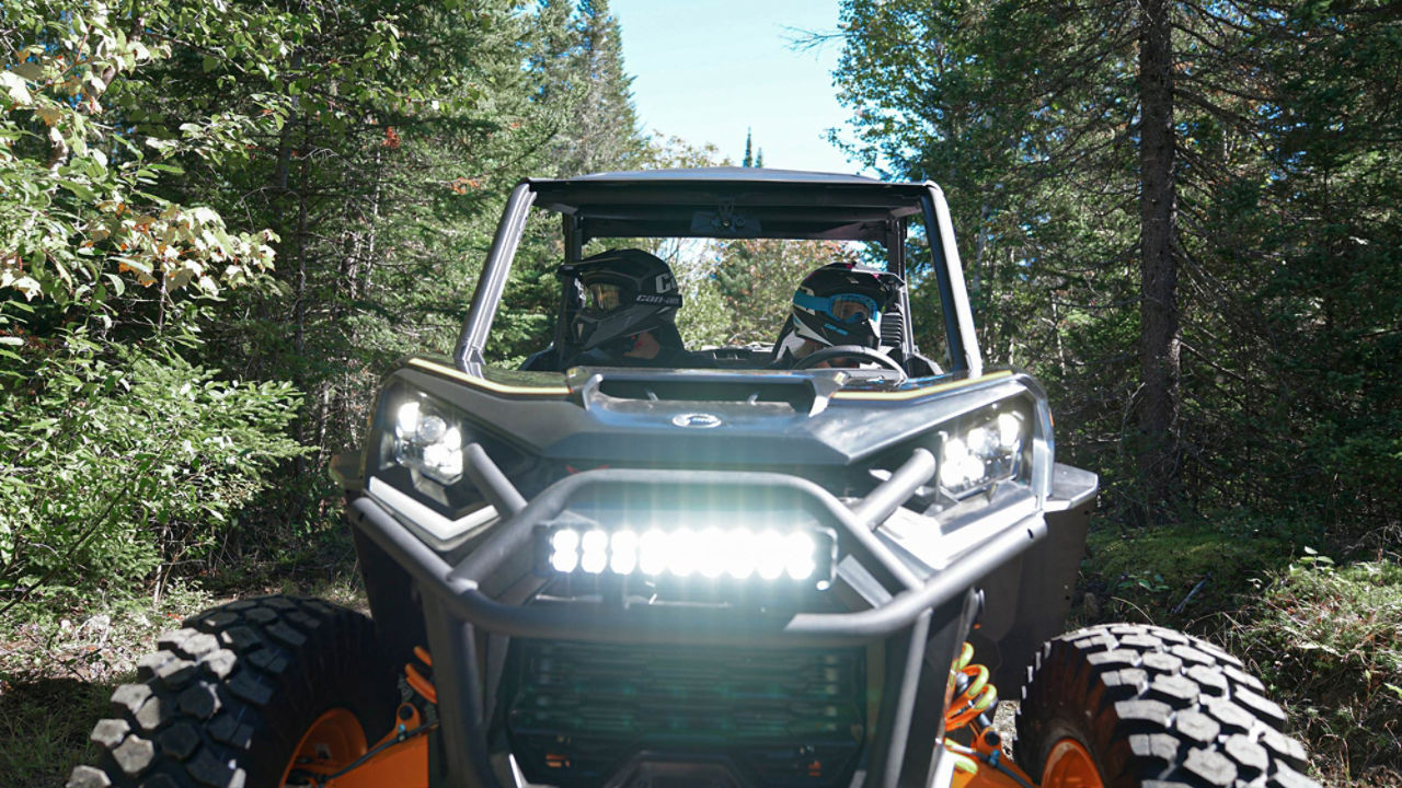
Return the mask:
<path fill-rule="evenodd" d="M 948 367 L 923 233 L 906 243 L 903 280 L 876 241 L 594 238 L 566 264 L 558 231 L 557 216 L 533 212 L 486 346 L 494 366 L 794 369 L 816 351 L 858 345 L 913 376 Z M 907 359 L 911 335 L 917 359 Z"/>

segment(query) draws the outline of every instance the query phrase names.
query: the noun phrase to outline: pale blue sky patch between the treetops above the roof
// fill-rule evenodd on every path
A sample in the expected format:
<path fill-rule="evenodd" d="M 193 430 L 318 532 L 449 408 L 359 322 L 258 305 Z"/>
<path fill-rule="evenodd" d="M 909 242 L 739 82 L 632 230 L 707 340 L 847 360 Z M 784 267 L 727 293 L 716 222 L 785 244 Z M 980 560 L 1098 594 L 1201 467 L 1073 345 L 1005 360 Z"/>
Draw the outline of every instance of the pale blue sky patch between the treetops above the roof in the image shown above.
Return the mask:
<path fill-rule="evenodd" d="M 824 139 L 848 118 L 831 84 L 840 45 L 792 45 L 801 31 L 836 31 L 837 0 L 611 0 L 608 10 L 644 128 L 709 142 L 736 164 L 753 128 L 765 167 L 857 170 Z"/>

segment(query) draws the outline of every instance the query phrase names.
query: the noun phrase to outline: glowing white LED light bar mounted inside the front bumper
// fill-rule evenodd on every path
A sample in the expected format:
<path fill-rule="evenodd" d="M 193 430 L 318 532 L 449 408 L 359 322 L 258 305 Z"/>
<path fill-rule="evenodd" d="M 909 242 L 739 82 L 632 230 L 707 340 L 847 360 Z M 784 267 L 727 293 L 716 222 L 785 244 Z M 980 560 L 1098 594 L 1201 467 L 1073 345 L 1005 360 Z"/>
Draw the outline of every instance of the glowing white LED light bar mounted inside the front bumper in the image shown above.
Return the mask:
<path fill-rule="evenodd" d="M 548 573 L 716 582 L 789 582 L 827 587 L 836 537 L 820 529 L 603 529 L 544 526 L 538 566 Z"/>

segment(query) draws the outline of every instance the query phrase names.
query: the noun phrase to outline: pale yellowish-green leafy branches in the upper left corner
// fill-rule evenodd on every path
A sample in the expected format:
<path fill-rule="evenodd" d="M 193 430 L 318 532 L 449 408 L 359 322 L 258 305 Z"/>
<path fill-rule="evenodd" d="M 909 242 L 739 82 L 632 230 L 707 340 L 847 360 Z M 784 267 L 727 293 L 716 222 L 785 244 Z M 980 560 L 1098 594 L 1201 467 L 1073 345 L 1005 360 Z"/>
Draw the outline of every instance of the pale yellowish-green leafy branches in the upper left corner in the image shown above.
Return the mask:
<path fill-rule="evenodd" d="M 175 150 L 220 156 L 244 118 L 186 122 L 171 139 L 119 133 L 104 115 L 130 101 L 153 63 L 171 55 L 163 22 L 230 28 L 247 13 L 213 6 L 20 0 L 0 31 L 0 289 L 91 308 L 128 279 L 216 294 L 272 264 L 269 233 L 229 231 L 209 208 L 151 193 Z M 147 25 L 149 22 L 149 25 Z M 154 29 L 153 29 L 154 28 Z M 236 45 L 257 52 L 254 42 Z M 181 139 L 184 136 L 184 140 Z M 0 290 L 3 293 L 3 290 Z"/>

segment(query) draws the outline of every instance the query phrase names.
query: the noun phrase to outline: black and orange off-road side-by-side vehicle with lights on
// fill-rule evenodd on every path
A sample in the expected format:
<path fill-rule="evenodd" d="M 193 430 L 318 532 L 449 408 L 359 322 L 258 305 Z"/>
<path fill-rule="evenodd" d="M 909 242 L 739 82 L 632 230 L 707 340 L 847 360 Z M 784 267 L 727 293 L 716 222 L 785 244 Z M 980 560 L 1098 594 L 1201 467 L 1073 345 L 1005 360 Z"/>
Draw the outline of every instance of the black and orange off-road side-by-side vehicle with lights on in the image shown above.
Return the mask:
<path fill-rule="evenodd" d="M 538 210 L 562 229 L 554 335 L 496 369 Z M 916 346 L 901 285 L 876 348 L 569 362 L 580 311 L 613 306 L 585 303 L 586 251 L 662 238 L 859 254 L 938 293 L 944 348 Z M 934 184 L 527 179 L 454 356 L 390 372 L 334 464 L 373 618 L 292 596 L 189 618 L 70 785 L 1314 785 L 1231 655 L 1059 634 L 1096 477 L 1056 463 L 1052 423 L 1032 377 L 983 363 Z M 1011 756 L 994 686 L 1021 687 Z"/>

